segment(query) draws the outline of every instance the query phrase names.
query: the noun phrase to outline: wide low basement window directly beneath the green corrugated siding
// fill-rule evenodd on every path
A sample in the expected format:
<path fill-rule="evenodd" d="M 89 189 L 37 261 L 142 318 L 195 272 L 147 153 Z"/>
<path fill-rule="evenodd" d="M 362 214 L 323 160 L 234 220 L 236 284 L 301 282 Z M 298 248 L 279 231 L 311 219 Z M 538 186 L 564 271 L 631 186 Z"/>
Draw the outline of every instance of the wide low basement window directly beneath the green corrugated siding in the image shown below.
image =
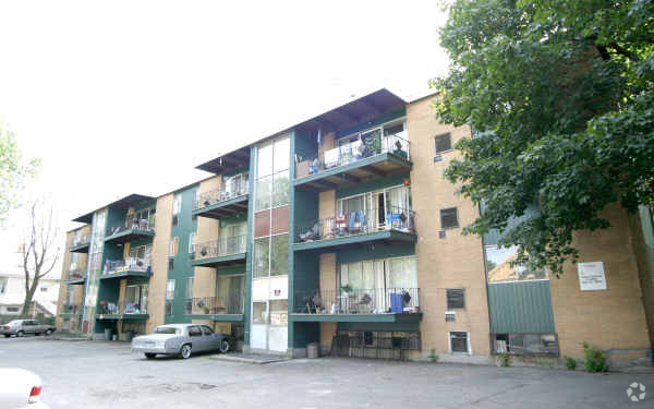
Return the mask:
<path fill-rule="evenodd" d="M 493 353 L 546 354 L 558 357 L 556 334 L 491 334 Z"/>

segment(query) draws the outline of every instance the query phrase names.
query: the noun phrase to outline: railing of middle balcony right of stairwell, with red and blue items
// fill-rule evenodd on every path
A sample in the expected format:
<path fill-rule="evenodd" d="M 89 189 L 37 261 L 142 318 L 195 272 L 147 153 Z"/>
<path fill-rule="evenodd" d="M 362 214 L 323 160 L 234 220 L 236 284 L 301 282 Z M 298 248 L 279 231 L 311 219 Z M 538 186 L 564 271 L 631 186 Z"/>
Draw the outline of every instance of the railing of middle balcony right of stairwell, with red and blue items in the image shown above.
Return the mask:
<path fill-rule="evenodd" d="M 383 230 L 415 233 L 415 212 L 399 206 L 371 207 L 298 224 L 295 242 L 336 239 Z"/>

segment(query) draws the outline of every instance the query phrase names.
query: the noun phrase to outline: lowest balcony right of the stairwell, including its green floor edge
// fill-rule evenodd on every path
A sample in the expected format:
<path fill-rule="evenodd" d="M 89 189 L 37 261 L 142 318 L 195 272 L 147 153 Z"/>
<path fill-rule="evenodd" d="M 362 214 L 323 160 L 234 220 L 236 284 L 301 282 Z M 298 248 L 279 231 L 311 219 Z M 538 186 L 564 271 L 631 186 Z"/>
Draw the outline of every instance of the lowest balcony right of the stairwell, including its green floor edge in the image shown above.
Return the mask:
<path fill-rule="evenodd" d="M 372 288 L 299 291 L 294 322 L 416 323 L 421 320 L 417 288 Z"/>

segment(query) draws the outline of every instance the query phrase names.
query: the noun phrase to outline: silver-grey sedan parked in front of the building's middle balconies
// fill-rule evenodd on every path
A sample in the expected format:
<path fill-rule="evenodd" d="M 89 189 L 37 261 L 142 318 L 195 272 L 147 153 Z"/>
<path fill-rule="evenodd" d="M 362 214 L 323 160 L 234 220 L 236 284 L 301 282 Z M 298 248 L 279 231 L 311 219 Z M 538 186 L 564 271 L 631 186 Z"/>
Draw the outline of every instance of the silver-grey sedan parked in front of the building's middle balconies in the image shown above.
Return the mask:
<path fill-rule="evenodd" d="M 132 339 L 132 352 L 144 353 L 152 359 L 158 354 L 178 356 L 186 359 L 193 352 L 230 349 L 229 336 L 216 333 L 208 325 L 167 324 L 158 326 L 154 334 Z"/>

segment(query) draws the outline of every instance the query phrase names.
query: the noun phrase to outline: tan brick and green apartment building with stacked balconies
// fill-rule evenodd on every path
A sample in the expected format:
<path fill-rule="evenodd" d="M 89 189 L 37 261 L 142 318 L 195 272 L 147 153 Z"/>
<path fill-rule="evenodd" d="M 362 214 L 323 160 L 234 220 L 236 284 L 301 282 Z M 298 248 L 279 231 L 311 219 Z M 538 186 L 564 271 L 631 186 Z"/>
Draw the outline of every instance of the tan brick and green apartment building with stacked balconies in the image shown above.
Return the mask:
<path fill-rule="evenodd" d="M 480 208 L 443 171 L 471 131 L 438 123 L 434 97 L 379 89 L 199 165 L 195 184 L 76 218 L 59 325 L 124 339 L 206 323 L 255 352 L 479 363 L 589 341 L 651 364 L 650 209 L 607 209 L 560 279 L 512 266 L 500 232 L 461 233 Z"/>

